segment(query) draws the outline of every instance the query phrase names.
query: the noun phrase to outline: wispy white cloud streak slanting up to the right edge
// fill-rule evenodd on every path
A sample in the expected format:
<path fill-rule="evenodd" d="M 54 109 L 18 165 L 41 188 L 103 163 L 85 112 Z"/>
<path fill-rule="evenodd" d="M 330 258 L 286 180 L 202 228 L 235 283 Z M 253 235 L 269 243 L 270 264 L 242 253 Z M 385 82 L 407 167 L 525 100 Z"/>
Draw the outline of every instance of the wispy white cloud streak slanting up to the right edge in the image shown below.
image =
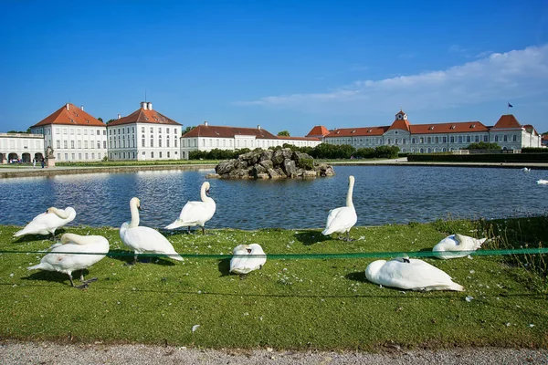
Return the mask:
<path fill-rule="evenodd" d="M 371 112 L 403 105 L 446 109 L 490 100 L 517 99 L 548 91 L 548 45 L 492 53 L 463 65 L 380 80 L 358 80 L 327 92 L 237 101 L 239 106 L 306 112 Z"/>

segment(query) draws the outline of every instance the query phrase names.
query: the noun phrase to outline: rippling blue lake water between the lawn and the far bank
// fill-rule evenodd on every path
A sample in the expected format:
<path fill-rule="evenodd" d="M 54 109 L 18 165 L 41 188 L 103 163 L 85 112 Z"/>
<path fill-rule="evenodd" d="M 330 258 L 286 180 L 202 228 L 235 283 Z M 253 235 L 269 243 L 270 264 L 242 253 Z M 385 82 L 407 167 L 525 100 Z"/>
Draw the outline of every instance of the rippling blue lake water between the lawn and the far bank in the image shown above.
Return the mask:
<path fill-rule="evenodd" d="M 335 166 L 316 180 L 210 180 L 216 214 L 210 228 L 320 228 L 330 209 L 344 205 L 355 177 L 358 225 L 429 222 L 437 218 L 501 218 L 545 214 L 548 171 L 519 169 Z M 120 226 L 129 201 L 141 199 L 141 224 L 163 227 L 188 200 L 199 200 L 213 170 L 93 173 L 0 180 L 0 224 L 24 225 L 49 206 L 76 209 L 70 225 Z"/>

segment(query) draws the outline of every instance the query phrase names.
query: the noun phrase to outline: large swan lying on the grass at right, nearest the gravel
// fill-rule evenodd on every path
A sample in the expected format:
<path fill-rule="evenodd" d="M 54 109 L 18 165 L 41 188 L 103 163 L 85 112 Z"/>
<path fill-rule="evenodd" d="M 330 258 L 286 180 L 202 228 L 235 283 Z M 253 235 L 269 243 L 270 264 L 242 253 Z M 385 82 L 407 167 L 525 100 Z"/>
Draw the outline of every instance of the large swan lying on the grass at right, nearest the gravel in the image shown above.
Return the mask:
<path fill-rule="evenodd" d="M 390 261 L 374 261 L 365 269 L 365 277 L 367 280 L 385 287 L 421 291 L 464 291 L 464 287 L 454 283 L 450 276 L 436 266 L 408 257 L 397 257 Z"/>

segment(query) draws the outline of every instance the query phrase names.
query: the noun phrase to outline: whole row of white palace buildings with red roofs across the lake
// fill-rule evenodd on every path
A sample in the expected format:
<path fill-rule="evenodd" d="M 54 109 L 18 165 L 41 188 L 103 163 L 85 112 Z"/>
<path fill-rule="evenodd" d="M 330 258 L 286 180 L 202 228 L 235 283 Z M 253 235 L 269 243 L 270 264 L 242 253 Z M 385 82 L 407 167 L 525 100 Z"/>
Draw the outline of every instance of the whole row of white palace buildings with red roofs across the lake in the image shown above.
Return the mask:
<path fill-rule="evenodd" d="M 473 142 L 497 143 L 503 150 L 542 147 L 539 133 L 522 125 L 512 114 L 502 115 L 493 125 L 480 121 L 411 124 L 403 110 L 391 125 L 328 130 L 315 126 L 306 137 L 276 136 L 268 130 L 212 126 L 205 121 L 181 135 L 183 125 L 157 110 L 152 102 L 128 116 L 105 124 L 83 106 L 65 104 L 27 133 L 0 133 L 0 162 L 40 161 L 47 148 L 58 162 L 111 160 L 185 160 L 191 151 L 268 149 L 292 144 L 315 147 L 322 142 L 350 144 L 355 148 L 395 145 L 402 152 L 432 153 L 458 151 Z"/>

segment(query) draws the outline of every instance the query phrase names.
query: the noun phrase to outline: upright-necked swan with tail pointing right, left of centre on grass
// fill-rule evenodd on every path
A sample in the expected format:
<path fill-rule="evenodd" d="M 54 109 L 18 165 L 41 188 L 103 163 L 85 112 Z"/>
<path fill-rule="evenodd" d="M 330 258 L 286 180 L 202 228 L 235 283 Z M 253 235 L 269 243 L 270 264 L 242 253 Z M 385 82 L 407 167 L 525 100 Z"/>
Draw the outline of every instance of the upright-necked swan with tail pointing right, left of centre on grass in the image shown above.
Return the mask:
<path fill-rule="evenodd" d="M 132 221 L 124 222 L 120 227 L 121 242 L 132 247 L 135 252 L 133 264 L 137 263 L 137 255 L 144 252 L 168 255 L 174 260 L 183 261 L 183 257 L 175 252 L 174 246 L 160 232 L 153 228 L 139 226 L 139 209 L 141 209 L 141 201 L 139 198 L 132 198 L 130 201 Z"/>

